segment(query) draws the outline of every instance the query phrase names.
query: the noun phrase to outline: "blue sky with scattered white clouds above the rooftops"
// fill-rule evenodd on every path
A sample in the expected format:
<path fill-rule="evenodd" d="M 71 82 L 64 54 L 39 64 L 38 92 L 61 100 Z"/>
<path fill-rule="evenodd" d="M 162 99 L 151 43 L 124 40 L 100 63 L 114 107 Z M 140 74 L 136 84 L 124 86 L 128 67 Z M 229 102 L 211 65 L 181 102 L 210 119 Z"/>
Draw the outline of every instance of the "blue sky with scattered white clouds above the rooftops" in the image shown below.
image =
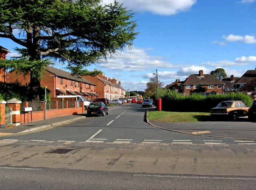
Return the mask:
<path fill-rule="evenodd" d="M 156 69 L 166 86 L 201 69 L 210 73 L 224 68 L 228 77 L 241 77 L 256 67 L 254 0 L 118 1 L 136 12 L 140 34 L 132 49 L 87 69 L 103 71 L 126 90 L 144 91 Z M 8 56 L 15 55 L 17 44 L 0 38 L 0 46 L 13 51 Z"/>

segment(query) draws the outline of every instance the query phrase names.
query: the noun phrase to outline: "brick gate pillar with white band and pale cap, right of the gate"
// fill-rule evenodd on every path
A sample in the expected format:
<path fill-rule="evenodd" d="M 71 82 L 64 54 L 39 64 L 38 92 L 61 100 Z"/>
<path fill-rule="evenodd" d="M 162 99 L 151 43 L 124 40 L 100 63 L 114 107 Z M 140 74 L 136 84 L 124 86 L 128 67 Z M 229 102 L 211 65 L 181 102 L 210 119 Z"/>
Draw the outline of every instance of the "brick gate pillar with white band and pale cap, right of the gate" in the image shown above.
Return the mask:
<path fill-rule="evenodd" d="M 12 107 L 12 125 L 20 125 L 20 104 L 21 101 L 16 98 L 8 100 L 9 107 Z"/>

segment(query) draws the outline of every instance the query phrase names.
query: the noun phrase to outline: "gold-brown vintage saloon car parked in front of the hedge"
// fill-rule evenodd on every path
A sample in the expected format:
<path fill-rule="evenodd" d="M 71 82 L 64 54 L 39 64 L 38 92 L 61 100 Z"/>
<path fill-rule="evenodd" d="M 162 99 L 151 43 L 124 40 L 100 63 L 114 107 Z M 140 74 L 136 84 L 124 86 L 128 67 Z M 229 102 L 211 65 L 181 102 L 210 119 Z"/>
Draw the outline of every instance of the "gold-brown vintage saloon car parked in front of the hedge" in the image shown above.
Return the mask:
<path fill-rule="evenodd" d="M 223 101 L 217 107 L 210 109 L 210 115 L 213 118 L 226 116 L 235 121 L 238 117 L 247 116 L 248 109 L 249 107 L 246 107 L 242 101 Z"/>

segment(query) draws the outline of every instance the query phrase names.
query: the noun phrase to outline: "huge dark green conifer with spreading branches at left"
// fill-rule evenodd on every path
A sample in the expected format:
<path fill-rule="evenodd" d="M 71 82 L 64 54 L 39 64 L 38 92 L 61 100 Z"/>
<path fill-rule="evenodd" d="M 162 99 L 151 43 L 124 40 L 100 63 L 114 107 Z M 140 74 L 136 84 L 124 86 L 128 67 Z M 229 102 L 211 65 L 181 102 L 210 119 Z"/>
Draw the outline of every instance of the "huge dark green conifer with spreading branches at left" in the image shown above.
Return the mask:
<path fill-rule="evenodd" d="M 49 60 L 67 64 L 72 75 L 96 75 L 85 67 L 117 50 L 131 48 L 137 34 L 134 13 L 101 0 L 0 0 L 0 38 L 22 48 L 1 67 L 30 74 L 30 97 L 39 100 L 40 76 Z M 18 34 L 16 34 L 18 32 Z"/>

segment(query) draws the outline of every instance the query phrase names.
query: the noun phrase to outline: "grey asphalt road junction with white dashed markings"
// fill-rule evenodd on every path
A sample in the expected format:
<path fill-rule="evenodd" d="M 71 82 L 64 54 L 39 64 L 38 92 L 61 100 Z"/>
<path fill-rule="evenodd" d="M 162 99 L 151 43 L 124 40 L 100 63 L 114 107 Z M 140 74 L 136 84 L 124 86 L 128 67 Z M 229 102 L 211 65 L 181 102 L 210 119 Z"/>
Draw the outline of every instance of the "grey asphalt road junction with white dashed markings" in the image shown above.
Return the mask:
<path fill-rule="evenodd" d="M 141 105 L 0 140 L 1 189 L 254 189 L 256 146 L 145 122 Z"/>

